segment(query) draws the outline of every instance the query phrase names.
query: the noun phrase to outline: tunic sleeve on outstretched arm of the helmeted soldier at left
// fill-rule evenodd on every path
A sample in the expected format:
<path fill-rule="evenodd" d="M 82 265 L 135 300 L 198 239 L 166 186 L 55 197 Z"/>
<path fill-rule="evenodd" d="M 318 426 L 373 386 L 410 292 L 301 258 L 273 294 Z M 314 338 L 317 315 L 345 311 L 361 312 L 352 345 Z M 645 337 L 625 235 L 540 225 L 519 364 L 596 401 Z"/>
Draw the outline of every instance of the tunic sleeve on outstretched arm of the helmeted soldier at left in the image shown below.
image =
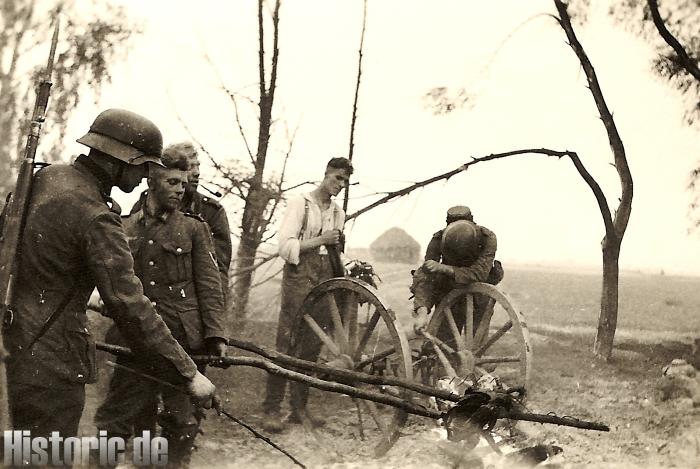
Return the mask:
<path fill-rule="evenodd" d="M 86 232 L 88 268 L 124 339 L 135 352 L 150 356 L 158 365 L 170 365 L 184 379 L 192 379 L 197 372 L 194 362 L 143 294 L 119 217 L 114 213 L 98 215 Z"/>

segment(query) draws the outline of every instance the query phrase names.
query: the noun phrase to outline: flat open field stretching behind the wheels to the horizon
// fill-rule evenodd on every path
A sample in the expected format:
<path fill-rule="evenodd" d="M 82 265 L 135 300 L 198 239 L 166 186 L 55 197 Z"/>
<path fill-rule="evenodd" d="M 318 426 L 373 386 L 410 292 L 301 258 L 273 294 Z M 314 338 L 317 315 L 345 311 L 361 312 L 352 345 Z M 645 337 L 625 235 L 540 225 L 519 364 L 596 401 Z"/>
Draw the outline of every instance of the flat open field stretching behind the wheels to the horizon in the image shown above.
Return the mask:
<path fill-rule="evenodd" d="M 411 269 L 406 264 L 374 263 L 382 282 L 380 296 L 398 315 L 410 318 L 408 287 Z M 279 259 L 268 272 L 279 270 Z M 528 324 L 537 328 L 594 331 L 598 323 L 601 274 L 560 268 L 504 265 L 500 287 L 521 309 Z M 269 275 L 268 273 L 268 275 Z M 259 273 L 257 278 L 267 275 Z M 272 321 L 279 310 L 281 274 L 256 287 L 251 294 L 249 317 Z M 700 277 L 622 272 L 620 275 L 619 337 L 678 338 L 700 336 Z"/>

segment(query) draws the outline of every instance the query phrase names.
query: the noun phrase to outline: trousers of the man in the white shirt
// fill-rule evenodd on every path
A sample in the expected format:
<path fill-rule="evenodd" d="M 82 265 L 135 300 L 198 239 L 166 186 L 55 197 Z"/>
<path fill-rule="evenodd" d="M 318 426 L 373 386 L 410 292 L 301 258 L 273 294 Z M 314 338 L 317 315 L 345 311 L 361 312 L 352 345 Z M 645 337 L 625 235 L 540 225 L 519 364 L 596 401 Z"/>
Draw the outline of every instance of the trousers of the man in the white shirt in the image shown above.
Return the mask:
<path fill-rule="evenodd" d="M 277 323 L 275 347 L 278 352 L 298 358 L 315 361 L 321 351 L 321 341 L 303 320 L 304 314 L 312 313 L 321 327 L 329 322 L 320 309 L 302 311 L 301 306 L 311 290 L 324 280 L 332 278 L 328 256 L 317 253 L 302 253 L 298 265 L 286 264 L 282 274 L 282 300 Z M 287 380 L 268 374 L 263 410 L 266 413 L 278 412 L 284 400 Z M 292 409 L 306 407 L 309 387 L 293 382 L 290 384 L 290 405 Z"/>

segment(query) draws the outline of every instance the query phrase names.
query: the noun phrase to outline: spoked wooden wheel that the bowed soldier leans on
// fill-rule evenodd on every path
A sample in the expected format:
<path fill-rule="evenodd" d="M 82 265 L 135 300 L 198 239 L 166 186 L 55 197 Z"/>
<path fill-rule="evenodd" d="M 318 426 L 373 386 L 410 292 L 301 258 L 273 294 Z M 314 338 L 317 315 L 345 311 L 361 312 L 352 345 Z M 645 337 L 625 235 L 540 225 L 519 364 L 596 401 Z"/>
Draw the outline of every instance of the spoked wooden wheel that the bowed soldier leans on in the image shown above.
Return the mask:
<path fill-rule="evenodd" d="M 424 384 L 441 378 L 475 382 L 490 373 L 508 388 L 527 389 L 532 348 L 522 313 L 498 288 L 473 283 L 456 288 L 436 306 L 416 351 Z"/>

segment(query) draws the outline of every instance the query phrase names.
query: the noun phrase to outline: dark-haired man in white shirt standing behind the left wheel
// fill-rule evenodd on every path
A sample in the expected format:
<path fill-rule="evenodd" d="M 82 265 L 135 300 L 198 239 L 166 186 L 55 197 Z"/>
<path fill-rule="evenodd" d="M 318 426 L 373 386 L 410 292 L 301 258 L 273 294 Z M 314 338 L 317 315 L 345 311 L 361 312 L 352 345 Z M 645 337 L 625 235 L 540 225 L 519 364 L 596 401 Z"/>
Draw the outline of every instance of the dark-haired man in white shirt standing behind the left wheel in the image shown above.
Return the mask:
<path fill-rule="evenodd" d="M 328 251 L 325 246 L 340 243 L 345 223 L 345 212 L 332 197 L 346 187 L 353 172 L 347 158 L 333 158 L 326 165 L 323 181 L 313 191 L 289 200 L 287 211 L 278 233 L 279 254 L 285 261 L 282 276 L 282 300 L 277 326 L 277 350 L 293 353 L 293 343 L 317 342 L 318 338 L 302 324 L 302 302 L 313 287 L 333 277 Z M 296 333 L 296 337 L 291 335 Z M 308 347 L 305 347 L 308 348 Z M 319 347 L 311 347 L 320 350 Z M 315 352 L 316 355 L 318 352 Z M 301 357 L 315 360 L 316 357 Z M 271 432 L 284 429 L 281 404 L 284 400 L 286 380 L 268 375 L 267 392 L 263 402 L 266 418 L 263 427 Z M 292 412 L 289 423 L 301 423 L 305 416 L 313 425 L 322 425 L 306 409 L 308 386 L 293 383 L 290 386 Z"/>

